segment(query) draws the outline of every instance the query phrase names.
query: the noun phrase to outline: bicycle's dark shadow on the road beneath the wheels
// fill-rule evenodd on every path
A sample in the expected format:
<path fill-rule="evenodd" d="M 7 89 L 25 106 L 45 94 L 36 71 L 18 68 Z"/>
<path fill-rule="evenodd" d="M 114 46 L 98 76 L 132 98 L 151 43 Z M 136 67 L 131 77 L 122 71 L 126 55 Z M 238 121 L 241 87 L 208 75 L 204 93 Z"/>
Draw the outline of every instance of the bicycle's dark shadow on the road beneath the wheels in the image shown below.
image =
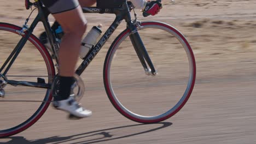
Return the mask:
<path fill-rule="evenodd" d="M 124 128 L 129 128 L 129 127 L 139 127 L 143 125 L 161 125 L 160 127 L 149 129 L 146 131 L 141 131 L 138 133 L 133 133 L 133 134 L 128 134 L 128 135 L 121 135 L 115 137 L 115 135 L 110 134 L 110 130 L 114 129 L 124 129 Z M 77 134 L 77 135 L 71 135 L 71 136 L 66 136 L 66 137 L 60 137 L 60 136 L 53 136 L 53 137 L 47 137 L 44 139 L 38 139 L 38 140 L 27 140 L 25 137 L 22 136 L 11 136 L 6 139 L 10 139 L 8 142 L 0 142 L 0 144 L 5 143 L 5 144 L 23 144 L 23 143 L 28 143 L 28 144 L 39 144 L 39 143 L 51 143 L 51 144 L 57 144 L 57 143 L 72 143 L 72 144 L 82 144 L 82 143 L 97 143 L 97 142 L 106 142 L 106 141 L 111 141 L 111 140 L 117 140 L 117 139 L 123 139 L 125 137 L 130 137 L 130 136 L 135 136 L 135 135 L 141 135 L 145 133 L 150 133 L 152 131 L 164 129 L 166 127 L 169 127 L 172 125 L 170 122 L 161 122 L 161 123 L 155 123 L 155 124 L 133 124 L 133 125 L 126 125 L 122 127 L 115 127 L 115 128 L 109 128 L 109 129 L 102 129 L 102 130 L 96 130 L 96 131 L 90 131 L 88 133 L 83 133 L 83 134 Z M 97 136 L 97 138 L 90 139 L 90 140 L 85 140 L 85 141 L 80 141 L 80 142 L 74 142 L 79 139 L 83 139 L 85 137 L 94 137 Z M 2 139 L 3 140 L 3 139 Z"/>

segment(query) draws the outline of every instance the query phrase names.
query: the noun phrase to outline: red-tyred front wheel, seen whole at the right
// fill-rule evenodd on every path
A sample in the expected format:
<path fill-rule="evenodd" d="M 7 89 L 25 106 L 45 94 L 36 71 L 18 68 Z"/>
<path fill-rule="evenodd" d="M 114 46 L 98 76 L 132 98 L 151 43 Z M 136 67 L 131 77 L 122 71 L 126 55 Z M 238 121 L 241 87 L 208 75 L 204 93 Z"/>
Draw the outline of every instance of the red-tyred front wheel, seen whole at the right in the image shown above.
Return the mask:
<path fill-rule="evenodd" d="M 145 74 L 126 29 L 107 53 L 104 85 L 122 115 L 139 123 L 156 123 L 185 105 L 195 84 L 196 64 L 188 41 L 177 29 L 162 22 L 141 26 L 138 33 L 158 74 Z"/>

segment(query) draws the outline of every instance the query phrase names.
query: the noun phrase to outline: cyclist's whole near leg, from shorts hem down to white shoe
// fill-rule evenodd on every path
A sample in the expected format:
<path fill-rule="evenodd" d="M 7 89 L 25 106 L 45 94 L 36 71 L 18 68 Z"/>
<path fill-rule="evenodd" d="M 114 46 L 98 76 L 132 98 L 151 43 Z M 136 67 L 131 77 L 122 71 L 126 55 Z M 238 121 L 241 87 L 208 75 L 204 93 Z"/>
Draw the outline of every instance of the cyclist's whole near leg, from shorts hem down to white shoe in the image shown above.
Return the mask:
<path fill-rule="evenodd" d="M 60 73 L 58 80 L 60 86 L 57 85 L 57 80 L 55 80 L 53 92 L 56 95 L 53 104 L 56 109 L 68 111 L 76 117 L 88 117 L 91 115 L 91 111 L 83 109 L 73 97 L 69 97 L 71 85 L 74 82 L 74 68 L 80 51 L 80 42 L 86 30 L 86 19 L 78 0 L 54 1 L 54 3 L 51 0 L 43 2 L 56 21 L 60 23 L 65 34 L 62 37 L 59 50 Z"/>

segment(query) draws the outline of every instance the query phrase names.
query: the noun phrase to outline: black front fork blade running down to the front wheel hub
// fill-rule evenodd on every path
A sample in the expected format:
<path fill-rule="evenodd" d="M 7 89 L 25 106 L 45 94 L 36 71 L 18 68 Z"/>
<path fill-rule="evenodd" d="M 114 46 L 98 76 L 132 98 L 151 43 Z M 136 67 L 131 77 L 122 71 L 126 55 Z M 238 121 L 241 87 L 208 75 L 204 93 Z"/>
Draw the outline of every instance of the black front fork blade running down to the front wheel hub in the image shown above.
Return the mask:
<path fill-rule="evenodd" d="M 133 25 L 133 26 L 135 26 L 135 25 Z M 154 65 L 153 65 L 149 55 L 148 55 L 146 47 L 143 44 L 141 36 L 139 35 L 139 33 L 137 31 L 137 28 L 135 28 L 135 30 L 133 30 L 131 32 L 129 37 L 130 37 L 132 45 L 137 53 L 139 61 L 141 61 L 141 64 L 145 70 L 145 73 L 147 75 L 152 75 L 152 76 L 155 76 L 156 74 L 158 74 L 156 69 L 154 68 Z"/>

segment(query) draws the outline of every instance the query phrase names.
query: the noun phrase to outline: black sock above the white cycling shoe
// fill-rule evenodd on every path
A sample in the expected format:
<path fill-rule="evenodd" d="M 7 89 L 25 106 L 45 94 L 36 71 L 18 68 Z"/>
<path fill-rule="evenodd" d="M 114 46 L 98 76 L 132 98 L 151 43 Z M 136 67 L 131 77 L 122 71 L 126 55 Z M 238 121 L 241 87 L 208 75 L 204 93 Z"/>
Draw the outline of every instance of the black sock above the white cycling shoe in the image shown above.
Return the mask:
<path fill-rule="evenodd" d="M 60 89 L 59 94 L 54 100 L 65 100 L 68 99 L 71 93 L 71 86 L 74 82 L 74 77 L 66 77 L 66 76 L 59 76 L 60 79 Z"/>

